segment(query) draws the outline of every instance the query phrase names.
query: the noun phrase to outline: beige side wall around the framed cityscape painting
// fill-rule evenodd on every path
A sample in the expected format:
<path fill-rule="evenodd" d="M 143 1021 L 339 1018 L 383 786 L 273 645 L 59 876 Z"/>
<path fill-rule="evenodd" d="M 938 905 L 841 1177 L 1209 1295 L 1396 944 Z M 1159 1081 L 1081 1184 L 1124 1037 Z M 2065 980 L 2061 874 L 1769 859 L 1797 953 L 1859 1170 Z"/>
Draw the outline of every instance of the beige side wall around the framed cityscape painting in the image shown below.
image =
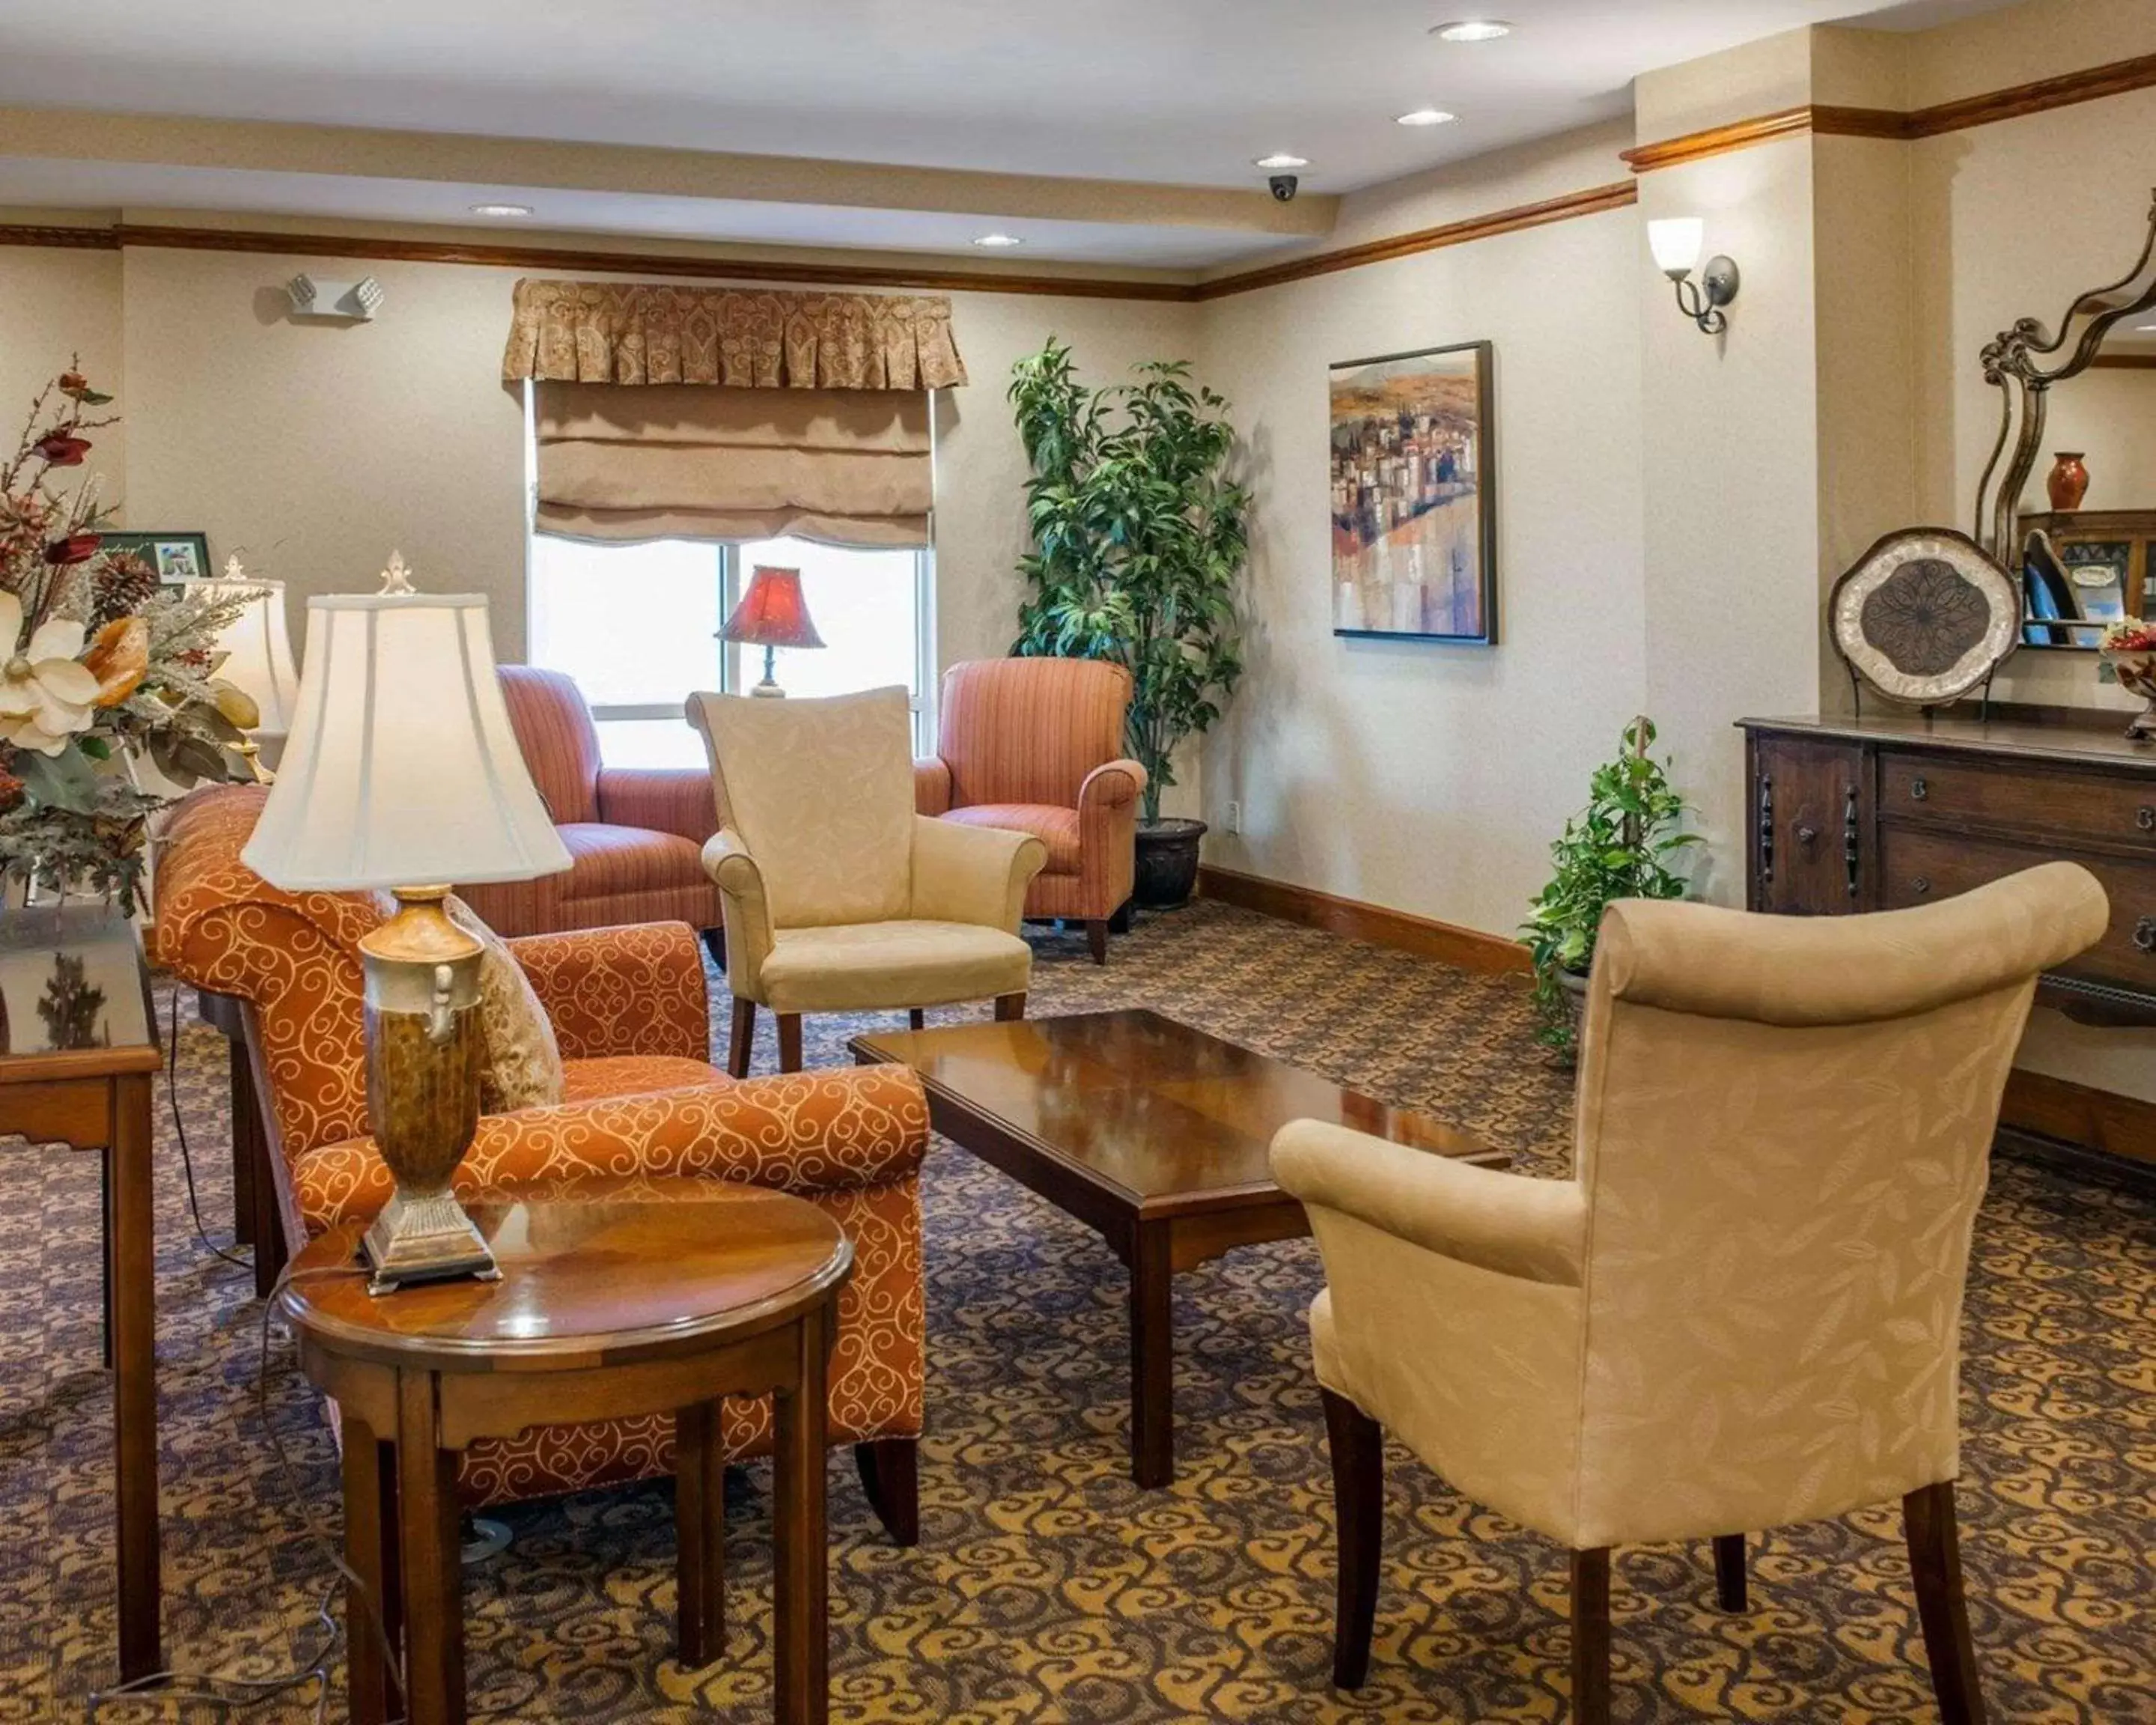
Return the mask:
<path fill-rule="evenodd" d="M 1611 181 L 1598 129 L 1350 198 L 1391 231 Z M 1388 207 L 1367 209 L 1378 196 Z M 1210 858 L 1509 932 L 1550 839 L 1639 709 L 1641 377 L 1630 211 L 1511 233 L 1207 306 L 1201 371 L 1233 403 L 1257 494 L 1248 679 L 1205 750 Z M 1326 367 L 1496 345 L 1501 643 L 1339 640 Z M 1225 832 L 1227 804 L 1244 809 Z"/>

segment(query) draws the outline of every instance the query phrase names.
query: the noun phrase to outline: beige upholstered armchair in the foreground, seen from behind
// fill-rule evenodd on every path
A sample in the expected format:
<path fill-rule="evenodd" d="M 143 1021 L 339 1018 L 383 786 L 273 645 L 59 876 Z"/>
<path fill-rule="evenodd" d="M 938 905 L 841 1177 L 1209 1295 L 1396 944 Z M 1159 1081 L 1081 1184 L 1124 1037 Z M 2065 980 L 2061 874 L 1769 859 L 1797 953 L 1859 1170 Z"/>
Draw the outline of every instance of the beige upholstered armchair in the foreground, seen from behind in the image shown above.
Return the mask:
<path fill-rule="evenodd" d="M 1968 1240 L 2042 970 L 2109 908 L 2072 862 L 1921 910 L 1602 923 L 1576 1179 L 1296 1121 L 1339 1509 L 1332 1675 L 1360 1686 L 1382 1432 L 1572 1552 L 1574 1719 L 1604 1725 L 1611 1546 L 1902 1499 L 1947 1725 L 1984 1719 L 1953 1524 Z"/>

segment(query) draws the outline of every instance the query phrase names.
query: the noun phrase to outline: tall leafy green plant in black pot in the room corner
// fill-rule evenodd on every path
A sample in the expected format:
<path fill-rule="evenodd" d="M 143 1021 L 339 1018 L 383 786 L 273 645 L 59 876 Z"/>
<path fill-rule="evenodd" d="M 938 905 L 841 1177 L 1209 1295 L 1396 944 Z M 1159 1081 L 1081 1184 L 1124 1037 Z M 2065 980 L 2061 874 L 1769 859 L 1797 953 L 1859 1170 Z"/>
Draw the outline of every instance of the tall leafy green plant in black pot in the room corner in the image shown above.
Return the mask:
<path fill-rule="evenodd" d="M 1250 494 L 1229 479 L 1227 401 L 1192 386 L 1181 360 L 1136 373 L 1134 384 L 1080 384 L 1054 336 L 1011 371 L 1033 468 L 1011 651 L 1130 671 L 1125 746 L 1145 768 L 1134 897 L 1171 908 L 1197 888 L 1205 822 L 1162 819 L 1160 794 L 1175 783 L 1177 746 L 1220 718 L 1242 675 L 1235 580 Z"/>

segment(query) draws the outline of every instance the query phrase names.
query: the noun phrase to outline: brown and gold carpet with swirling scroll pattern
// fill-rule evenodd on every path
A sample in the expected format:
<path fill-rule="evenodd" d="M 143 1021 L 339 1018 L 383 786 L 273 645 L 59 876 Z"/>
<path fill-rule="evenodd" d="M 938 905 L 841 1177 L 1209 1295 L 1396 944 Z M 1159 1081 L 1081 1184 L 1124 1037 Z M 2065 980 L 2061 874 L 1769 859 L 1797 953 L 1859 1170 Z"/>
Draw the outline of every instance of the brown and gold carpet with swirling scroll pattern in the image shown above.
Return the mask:
<path fill-rule="evenodd" d="M 1220 906 L 1147 919 L 1110 968 L 1039 944 L 1035 1011 L 1151 1005 L 1563 1169 L 1570 1080 L 1503 979 Z M 203 1216 L 231 1229 L 224 1046 L 181 1035 Z M 811 1063 L 843 1059 L 811 1020 Z M 770 1070 L 770 1044 L 759 1070 Z M 246 1270 L 196 1242 L 164 1121 L 160 1384 L 166 1645 L 276 1675 L 319 1641 L 330 1570 L 257 1404 Z M 923 1542 L 895 1550 L 832 1458 L 834 1721 L 1557 1721 L 1563 1559 L 1393 1451 L 1373 1680 L 1326 1682 L 1332 1512 L 1302 1311 L 1309 1242 L 1177 1285 L 1173 1490 L 1125 1471 L 1123 1270 L 1076 1223 L 942 1145 L 927 1169 Z M 80 1721 L 112 1680 L 110 1427 L 97 1369 L 97 1167 L 0 1149 L 0 1721 Z M 1968 1313 L 1962 1488 L 1994 1721 L 2156 1721 L 2156 1203 L 2001 1160 Z M 336 1522 L 317 1404 L 282 1339 L 270 1412 L 310 1514 Z M 729 1658 L 681 1671 L 664 1484 L 511 1512 L 466 1581 L 472 1708 L 586 1725 L 770 1719 L 768 1473 L 729 1481 Z M 1891 1507 L 1757 1546 L 1753 1611 L 1714 1609 L 1703 1548 L 1619 1552 L 1621 1721 L 1932 1721 Z M 341 1680 L 338 1680 L 341 1682 Z M 315 1688 L 246 1719 L 308 1719 Z M 211 1721 L 106 1706 L 106 1721 Z M 330 1697 L 343 1716 L 343 1693 Z"/>

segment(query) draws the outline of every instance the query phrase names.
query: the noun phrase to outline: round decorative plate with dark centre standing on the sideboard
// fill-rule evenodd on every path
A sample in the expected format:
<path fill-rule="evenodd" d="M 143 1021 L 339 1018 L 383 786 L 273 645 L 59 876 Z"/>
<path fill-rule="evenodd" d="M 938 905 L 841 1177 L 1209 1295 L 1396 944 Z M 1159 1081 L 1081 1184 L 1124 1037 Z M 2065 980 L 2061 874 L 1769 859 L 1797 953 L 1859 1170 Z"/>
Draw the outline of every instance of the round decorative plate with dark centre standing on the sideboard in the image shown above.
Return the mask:
<path fill-rule="evenodd" d="M 1835 582 L 1835 649 L 1893 701 L 1938 707 L 1990 684 L 2020 645 L 2020 586 L 1947 526 L 1889 533 Z"/>

